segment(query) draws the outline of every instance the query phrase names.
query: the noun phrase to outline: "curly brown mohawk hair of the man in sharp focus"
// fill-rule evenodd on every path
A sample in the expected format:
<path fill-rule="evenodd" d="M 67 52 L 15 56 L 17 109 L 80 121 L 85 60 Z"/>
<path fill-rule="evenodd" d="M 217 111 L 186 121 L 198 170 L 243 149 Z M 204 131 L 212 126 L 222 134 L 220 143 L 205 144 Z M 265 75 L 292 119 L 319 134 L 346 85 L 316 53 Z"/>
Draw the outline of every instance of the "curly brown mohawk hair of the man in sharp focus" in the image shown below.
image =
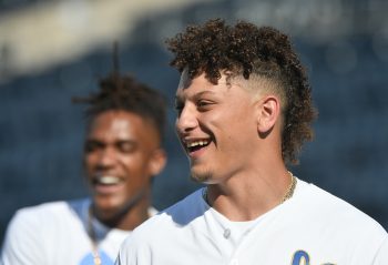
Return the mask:
<path fill-rule="evenodd" d="M 231 27 L 214 19 L 188 26 L 166 44 L 175 55 L 170 64 L 181 73 L 186 70 L 191 79 L 205 73 L 216 84 L 222 71 L 227 71 L 246 80 L 253 74 L 277 84 L 285 101 L 282 155 L 286 163 L 298 163 L 303 143 L 313 139 L 310 124 L 317 112 L 307 74 L 286 34 L 245 21 Z"/>

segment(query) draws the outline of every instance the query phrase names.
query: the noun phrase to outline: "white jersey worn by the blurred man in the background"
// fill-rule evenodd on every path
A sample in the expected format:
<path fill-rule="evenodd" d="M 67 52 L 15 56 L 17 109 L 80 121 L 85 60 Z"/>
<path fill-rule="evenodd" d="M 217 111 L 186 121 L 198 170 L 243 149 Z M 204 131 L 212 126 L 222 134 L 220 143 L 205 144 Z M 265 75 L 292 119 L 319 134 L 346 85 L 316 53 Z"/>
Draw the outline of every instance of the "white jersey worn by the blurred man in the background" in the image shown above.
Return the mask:
<path fill-rule="evenodd" d="M 89 206 L 90 200 L 85 198 L 19 210 L 7 230 L 0 264 L 94 264 L 88 234 Z M 102 264 L 112 265 L 121 243 L 131 232 L 109 228 L 95 218 L 92 225 Z"/>

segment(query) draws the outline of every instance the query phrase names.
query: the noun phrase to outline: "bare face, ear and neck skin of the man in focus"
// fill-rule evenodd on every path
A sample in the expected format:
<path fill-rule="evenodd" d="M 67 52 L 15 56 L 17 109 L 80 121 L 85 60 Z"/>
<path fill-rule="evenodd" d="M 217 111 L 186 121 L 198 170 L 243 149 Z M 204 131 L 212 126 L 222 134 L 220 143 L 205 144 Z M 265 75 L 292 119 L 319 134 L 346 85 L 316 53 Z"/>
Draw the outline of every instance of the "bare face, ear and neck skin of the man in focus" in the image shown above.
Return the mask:
<path fill-rule="evenodd" d="M 282 159 L 280 101 L 243 85 L 228 84 L 225 74 L 212 84 L 204 74 L 191 80 L 183 72 L 176 91 L 176 132 L 192 177 L 208 184 L 212 206 L 232 221 L 275 207 L 290 183 Z"/>

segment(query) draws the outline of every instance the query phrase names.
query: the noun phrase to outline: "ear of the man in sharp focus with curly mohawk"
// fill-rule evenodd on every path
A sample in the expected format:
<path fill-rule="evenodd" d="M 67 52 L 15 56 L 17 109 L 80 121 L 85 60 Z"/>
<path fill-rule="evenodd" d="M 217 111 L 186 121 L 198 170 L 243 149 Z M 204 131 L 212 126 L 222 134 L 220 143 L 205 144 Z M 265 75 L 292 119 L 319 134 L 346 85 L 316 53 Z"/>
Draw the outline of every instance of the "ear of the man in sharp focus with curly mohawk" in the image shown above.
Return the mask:
<path fill-rule="evenodd" d="M 258 103 L 257 132 L 266 135 L 273 130 L 280 114 L 280 101 L 275 95 L 266 95 Z"/>

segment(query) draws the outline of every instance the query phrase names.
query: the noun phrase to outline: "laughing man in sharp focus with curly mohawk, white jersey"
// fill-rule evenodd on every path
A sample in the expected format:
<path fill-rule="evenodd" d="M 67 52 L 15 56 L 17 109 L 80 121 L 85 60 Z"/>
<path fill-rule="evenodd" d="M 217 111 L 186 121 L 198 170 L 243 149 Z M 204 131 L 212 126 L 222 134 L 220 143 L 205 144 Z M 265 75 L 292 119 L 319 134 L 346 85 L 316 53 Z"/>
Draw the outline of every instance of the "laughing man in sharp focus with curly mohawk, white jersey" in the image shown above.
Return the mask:
<path fill-rule="evenodd" d="M 388 264 L 376 221 L 287 169 L 315 118 L 288 37 L 211 20 L 167 43 L 177 136 L 205 187 L 139 226 L 118 264 Z"/>

